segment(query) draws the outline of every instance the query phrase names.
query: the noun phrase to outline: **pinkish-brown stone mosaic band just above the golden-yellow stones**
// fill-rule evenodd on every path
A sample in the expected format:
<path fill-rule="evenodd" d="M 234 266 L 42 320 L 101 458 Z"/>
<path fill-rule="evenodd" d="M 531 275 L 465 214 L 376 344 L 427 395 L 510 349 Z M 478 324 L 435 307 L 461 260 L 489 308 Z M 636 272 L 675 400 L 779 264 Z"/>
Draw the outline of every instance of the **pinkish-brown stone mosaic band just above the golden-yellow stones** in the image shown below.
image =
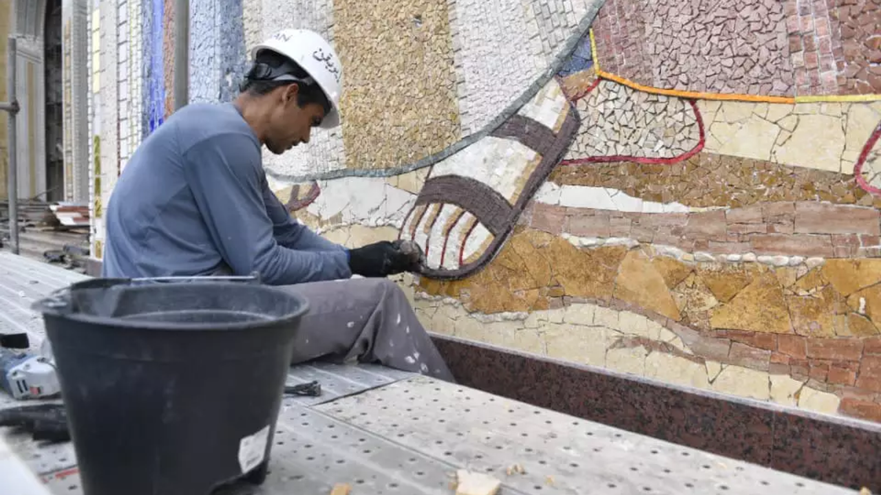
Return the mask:
<path fill-rule="evenodd" d="M 870 207 L 780 202 L 728 211 L 632 213 L 534 203 L 523 218 L 546 233 L 626 238 L 687 253 L 881 257 L 881 217 Z"/>

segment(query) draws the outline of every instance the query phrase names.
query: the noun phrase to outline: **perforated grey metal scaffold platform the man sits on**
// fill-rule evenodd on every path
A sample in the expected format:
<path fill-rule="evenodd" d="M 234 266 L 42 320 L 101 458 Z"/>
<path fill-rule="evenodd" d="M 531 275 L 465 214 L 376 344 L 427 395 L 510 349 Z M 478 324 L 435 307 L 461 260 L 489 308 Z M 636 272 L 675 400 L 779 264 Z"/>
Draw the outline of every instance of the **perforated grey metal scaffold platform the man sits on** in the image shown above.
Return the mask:
<path fill-rule="evenodd" d="M 41 339 L 30 304 L 83 278 L 0 253 L 0 331 L 25 325 Z M 311 380 L 323 395 L 285 398 L 265 484 L 218 494 L 320 495 L 348 483 L 352 495 L 451 495 L 462 468 L 499 477 L 500 495 L 855 493 L 383 366 L 295 366 L 288 382 Z M 0 409 L 12 405 L 0 394 Z M 0 436 L 54 495 L 82 494 L 70 443 Z M 509 475 L 515 464 L 525 473 Z"/>

